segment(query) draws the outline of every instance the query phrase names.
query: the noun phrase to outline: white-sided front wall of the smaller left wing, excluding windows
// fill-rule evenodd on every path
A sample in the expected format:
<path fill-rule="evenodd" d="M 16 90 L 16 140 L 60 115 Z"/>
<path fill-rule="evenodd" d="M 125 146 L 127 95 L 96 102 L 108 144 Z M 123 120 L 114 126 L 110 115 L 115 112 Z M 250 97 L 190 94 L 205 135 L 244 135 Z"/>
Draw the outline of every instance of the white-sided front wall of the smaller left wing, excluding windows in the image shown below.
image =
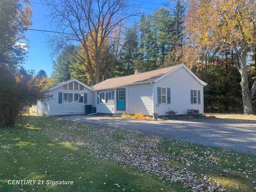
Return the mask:
<path fill-rule="evenodd" d="M 59 103 L 59 92 L 61 93 L 87 93 L 87 103 Z M 50 115 L 85 114 L 85 105 L 95 107 L 94 91 L 84 87 L 84 90 L 63 90 L 58 87 L 51 91 L 53 98 L 50 100 Z M 62 96 L 63 100 L 63 96 Z"/>

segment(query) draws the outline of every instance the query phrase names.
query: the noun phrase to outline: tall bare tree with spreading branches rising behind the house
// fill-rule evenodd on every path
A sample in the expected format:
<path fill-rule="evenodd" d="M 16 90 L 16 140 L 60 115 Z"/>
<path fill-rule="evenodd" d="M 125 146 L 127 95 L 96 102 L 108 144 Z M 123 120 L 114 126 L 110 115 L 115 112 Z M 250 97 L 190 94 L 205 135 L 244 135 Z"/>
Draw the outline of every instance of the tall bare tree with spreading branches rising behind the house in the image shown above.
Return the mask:
<path fill-rule="evenodd" d="M 127 0 L 45 0 L 51 8 L 51 18 L 61 34 L 55 34 L 51 43 L 55 51 L 70 44 L 81 44 L 86 59 L 75 54 L 84 63 L 92 85 L 100 82 L 102 47 L 107 38 L 117 38 L 116 30 L 135 15 Z M 92 41 L 95 57 L 91 58 L 87 41 Z M 117 41 L 118 42 L 118 41 Z M 93 62 L 92 62 L 93 61 Z M 106 70 L 108 67 L 104 66 Z"/>

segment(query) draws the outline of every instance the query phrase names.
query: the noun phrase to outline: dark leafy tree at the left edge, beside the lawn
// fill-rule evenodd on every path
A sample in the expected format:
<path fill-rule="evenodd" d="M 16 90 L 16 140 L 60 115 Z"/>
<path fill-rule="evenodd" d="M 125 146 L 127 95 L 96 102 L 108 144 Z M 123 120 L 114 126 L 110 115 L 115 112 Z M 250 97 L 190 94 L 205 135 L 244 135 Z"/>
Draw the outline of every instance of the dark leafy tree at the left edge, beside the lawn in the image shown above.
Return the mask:
<path fill-rule="evenodd" d="M 13 126 L 22 108 L 40 98 L 33 71 L 19 66 L 26 56 L 25 31 L 31 26 L 29 1 L 0 1 L 0 124 Z"/>

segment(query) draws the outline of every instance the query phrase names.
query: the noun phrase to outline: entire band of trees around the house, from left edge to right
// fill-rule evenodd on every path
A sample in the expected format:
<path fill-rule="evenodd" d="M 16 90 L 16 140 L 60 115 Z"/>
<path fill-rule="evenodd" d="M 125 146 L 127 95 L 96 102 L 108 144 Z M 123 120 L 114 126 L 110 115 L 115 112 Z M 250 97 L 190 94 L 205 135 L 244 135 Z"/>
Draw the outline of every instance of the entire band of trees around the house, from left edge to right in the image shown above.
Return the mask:
<path fill-rule="evenodd" d="M 208 83 L 206 112 L 255 111 L 255 1 L 177 0 L 150 14 L 125 0 L 45 4 L 59 31 L 48 35 L 58 55 L 50 77 L 21 67 L 31 26 L 29 1 L 0 2 L 1 123 L 13 125 L 23 106 L 44 97 L 42 89 L 68 79 L 95 85 L 181 62 Z"/>

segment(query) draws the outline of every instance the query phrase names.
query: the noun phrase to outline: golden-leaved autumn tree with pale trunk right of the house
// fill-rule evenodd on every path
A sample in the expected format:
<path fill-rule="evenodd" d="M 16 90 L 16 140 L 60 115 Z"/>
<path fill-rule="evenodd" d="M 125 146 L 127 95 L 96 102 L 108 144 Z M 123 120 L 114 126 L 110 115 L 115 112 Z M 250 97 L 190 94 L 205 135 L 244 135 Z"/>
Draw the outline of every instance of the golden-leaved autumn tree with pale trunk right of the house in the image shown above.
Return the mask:
<path fill-rule="evenodd" d="M 245 114 L 252 114 L 252 98 L 256 81 L 249 85 L 247 57 L 255 45 L 256 2 L 249 0 L 191 0 L 186 32 L 189 37 L 183 52 L 184 61 L 195 65 L 198 57 L 209 52 L 230 49 L 236 57 L 241 75 Z"/>

